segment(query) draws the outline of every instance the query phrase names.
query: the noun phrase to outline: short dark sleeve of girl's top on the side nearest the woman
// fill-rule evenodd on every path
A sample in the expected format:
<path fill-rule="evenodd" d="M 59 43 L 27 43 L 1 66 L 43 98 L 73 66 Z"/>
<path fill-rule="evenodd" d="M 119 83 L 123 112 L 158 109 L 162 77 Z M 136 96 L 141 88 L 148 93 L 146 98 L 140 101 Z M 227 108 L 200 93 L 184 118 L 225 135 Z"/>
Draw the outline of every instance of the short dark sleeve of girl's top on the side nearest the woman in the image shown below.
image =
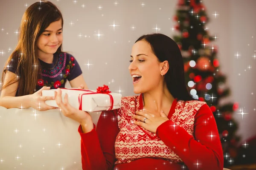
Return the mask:
<path fill-rule="evenodd" d="M 70 54 L 67 54 L 67 67 L 66 67 L 66 73 L 67 71 L 69 71 L 69 75 L 67 76 L 67 80 L 71 81 L 73 79 L 75 79 L 76 77 L 80 76 L 82 74 L 81 68 L 77 62 L 77 60 L 75 59 L 75 57 L 73 57 Z"/>

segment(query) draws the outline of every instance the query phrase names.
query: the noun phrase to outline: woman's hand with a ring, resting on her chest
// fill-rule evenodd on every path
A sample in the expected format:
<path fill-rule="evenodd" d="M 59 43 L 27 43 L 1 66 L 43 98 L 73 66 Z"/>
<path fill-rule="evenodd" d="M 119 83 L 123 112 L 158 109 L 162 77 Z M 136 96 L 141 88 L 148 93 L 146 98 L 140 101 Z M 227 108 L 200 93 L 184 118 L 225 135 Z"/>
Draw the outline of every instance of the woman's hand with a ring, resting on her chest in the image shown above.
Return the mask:
<path fill-rule="evenodd" d="M 134 121 L 134 124 L 144 127 L 146 130 L 151 131 L 153 133 L 156 133 L 158 126 L 160 126 L 163 122 L 169 120 L 166 114 L 163 113 L 163 111 L 160 112 L 161 116 L 155 116 L 154 114 L 145 110 L 140 110 L 136 114 L 137 115 L 134 115 L 133 117 L 135 119 L 140 120 L 141 122 Z"/>

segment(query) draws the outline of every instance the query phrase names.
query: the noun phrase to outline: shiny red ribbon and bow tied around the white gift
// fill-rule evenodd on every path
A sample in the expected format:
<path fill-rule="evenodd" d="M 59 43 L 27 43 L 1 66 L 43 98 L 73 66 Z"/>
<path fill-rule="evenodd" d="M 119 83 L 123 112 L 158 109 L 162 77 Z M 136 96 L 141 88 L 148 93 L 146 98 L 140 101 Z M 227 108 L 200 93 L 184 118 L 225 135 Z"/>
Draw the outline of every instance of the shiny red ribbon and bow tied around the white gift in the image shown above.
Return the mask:
<path fill-rule="evenodd" d="M 78 101 L 79 101 L 79 110 L 82 110 L 82 96 L 83 95 L 87 95 L 87 94 L 108 94 L 108 96 L 110 97 L 110 108 L 107 111 L 111 111 L 113 109 L 113 96 L 109 93 L 111 93 L 111 91 L 109 91 L 109 88 L 107 85 L 103 85 L 103 87 L 98 87 L 97 91 L 91 91 L 91 90 L 87 90 L 87 89 L 70 89 L 70 88 L 61 88 L 61 89 L 65 89 L 65 90 L 74 90 L 74 91 L 84 91 L 84 92 L 89 92 L 89 93 L 81 93 L 78 96 Z"/>

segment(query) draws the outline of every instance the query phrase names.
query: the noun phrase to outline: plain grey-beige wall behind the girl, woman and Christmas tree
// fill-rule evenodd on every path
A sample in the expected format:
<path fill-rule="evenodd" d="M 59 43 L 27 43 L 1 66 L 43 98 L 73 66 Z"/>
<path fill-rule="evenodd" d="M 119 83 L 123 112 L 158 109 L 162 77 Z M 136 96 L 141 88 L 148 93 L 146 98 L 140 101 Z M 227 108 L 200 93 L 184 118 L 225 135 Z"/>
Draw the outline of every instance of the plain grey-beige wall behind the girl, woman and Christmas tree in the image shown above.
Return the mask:
<path fill-rule="evenodd" d="M 35 0 L 1 0 L 0 5 L 0 65 L 9 57 L 17 44 L 19 28 L 26 3 Z M 142 34 L 157 32 L 172 37 L 175 26 L 176 0 L 52 0 L 61 9 L 64 17 L 64 51 L 78 60 L 83 76 L 90 89 L 103 84 L 111 91 L 123 91 L 123 96 L 134 95 L 128 65 L 131 47 Z M 207 27 L 215 35 L 221 71 L 227 76 L 227 85 L 232 94 L 222 103 L 239 102 L 244 115 L 235 114 L 239 122 L 238 133 L 245 140 L 256 134 L 256 1 L 255 0 L 204 0 L 211 18 Z M 145 6 L 141 4 L 144 3 Z M 82 5 L 85 5 L 84 8 Z M 99 6 L 102 7 L 99 10 Z M 219 14 L 216 19 L 215 11 Z M 115 30 L 113 29 L 115 21 Z M 71 25 L 70 23 L 74 23 Z M 131 28 L 134 26 L 134 30 Z M 3 31 L 1 29 L 4 29 Z M 95 34 L 104 34 L 98 39 Z M 7 34 L 8 33 L 8 34 Z M 81 33 L 81 37 L 79 34 Z M 248 45 L 249 44 L 249 45 Z M 11 48 L 9 51 L 8 49 Z M 237 59 L 235 54 L 241 54 Z M 89 69 L 87 64 L 89 60 Z M 247 68 L 250 65 L 250 70 Z M 245 71 L 246 70 L 246 71 Z M 240 76 L 239 76 L 240 74 Z M 113 80 L 113 82 L 112 82 Z M 67 84 L 67 87 L 70 87 Z M 253 94 L 252 94 L 253 93 Z M 236 111 L 235 113 L 239 113 Z M 240 112 L 241 113 L 241 112 Z"/>

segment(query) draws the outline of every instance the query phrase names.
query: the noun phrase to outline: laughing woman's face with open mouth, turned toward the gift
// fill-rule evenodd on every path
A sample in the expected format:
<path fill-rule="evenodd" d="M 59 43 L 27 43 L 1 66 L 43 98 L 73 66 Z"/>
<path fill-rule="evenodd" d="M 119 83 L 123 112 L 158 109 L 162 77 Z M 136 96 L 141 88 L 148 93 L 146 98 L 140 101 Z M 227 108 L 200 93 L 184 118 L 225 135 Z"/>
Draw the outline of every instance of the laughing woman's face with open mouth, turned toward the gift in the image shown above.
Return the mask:
<path fill-rule="evenodd" d="M 132 76 L 135 94 L 154 90 L 160 85 L 161 62 L 154 55 L 148 42 L 141 40 L 133 45 L 130 62 L 128 69 Z"/>

